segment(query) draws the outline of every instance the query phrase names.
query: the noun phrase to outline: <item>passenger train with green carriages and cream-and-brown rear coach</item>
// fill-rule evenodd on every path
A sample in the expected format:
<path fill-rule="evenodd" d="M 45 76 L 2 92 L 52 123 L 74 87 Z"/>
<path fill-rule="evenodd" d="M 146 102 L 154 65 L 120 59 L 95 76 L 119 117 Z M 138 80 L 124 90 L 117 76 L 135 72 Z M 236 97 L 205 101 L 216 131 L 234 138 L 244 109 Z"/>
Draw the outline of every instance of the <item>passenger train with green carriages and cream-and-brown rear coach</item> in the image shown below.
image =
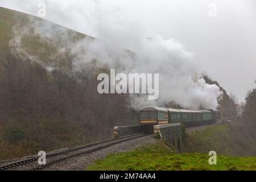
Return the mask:
<path fill-rule="evenodd" d="M 144 106 L 140 110 L 141 125 L 183 123 L 186 127 L 208 125 L 220 119 L 218 110 L 186 110 Z"/>

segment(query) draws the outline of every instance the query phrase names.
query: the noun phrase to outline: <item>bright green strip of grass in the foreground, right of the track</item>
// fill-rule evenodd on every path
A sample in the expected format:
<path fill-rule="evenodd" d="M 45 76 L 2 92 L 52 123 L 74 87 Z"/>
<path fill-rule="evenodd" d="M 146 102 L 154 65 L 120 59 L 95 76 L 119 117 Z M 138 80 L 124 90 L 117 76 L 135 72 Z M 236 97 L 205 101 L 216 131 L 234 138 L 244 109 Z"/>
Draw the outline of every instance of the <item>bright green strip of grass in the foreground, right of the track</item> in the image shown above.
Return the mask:
<path fill-rule="evenodd" d="M 229 157 L 217 155 L 217 164 L 210 165 L 207 154 L 177 154 L 163 143 L 138 148 L 131 152 L 109 155 L 104 160 L 97 160 L 86 170 L 255 170 L 254 157 Z"/>

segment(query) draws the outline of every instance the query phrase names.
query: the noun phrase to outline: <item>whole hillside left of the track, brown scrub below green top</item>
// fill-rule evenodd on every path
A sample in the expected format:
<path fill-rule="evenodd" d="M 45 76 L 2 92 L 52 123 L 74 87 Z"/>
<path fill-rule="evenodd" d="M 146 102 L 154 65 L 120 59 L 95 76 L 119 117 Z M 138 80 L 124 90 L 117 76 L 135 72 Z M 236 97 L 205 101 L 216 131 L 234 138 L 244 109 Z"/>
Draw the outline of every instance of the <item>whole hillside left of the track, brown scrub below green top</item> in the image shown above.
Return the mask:
<path fill-rule="evenodd" d="M 59 41 L 42 40 L 30 27 L 31 17 L 0 8 L 0 160 L 103 140 L 114 126 L 137 121 L 127 96 L 98 94 L 95 70 L 69 74 L 72 55 L 58 48 L 86 35 L 34 17 L 56 30 Z M 35 60 L 9 47 L 19 31 L 25 31 L 22 49 Z M 61 32 L 65 39 L 59 39 Z M 59 69 L 47 72 L 48 63 Z"/>

